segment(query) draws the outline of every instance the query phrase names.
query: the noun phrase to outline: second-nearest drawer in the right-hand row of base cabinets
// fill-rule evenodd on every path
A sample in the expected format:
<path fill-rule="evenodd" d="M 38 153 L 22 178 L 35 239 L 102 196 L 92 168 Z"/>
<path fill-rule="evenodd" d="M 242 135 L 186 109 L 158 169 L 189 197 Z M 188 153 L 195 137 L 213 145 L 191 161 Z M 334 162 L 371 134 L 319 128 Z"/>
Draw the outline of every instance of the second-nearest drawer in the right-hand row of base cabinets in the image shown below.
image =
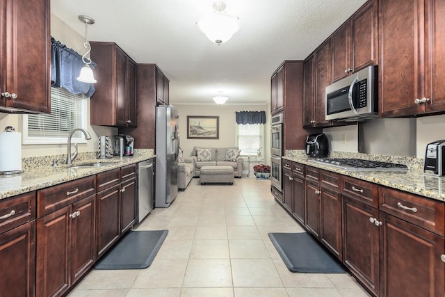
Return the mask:
<path fill-rule="evenodd" d="M 378 185 L 353 177 L 343 176 L 343 190 L 349 197 L 378 208 Z"/>

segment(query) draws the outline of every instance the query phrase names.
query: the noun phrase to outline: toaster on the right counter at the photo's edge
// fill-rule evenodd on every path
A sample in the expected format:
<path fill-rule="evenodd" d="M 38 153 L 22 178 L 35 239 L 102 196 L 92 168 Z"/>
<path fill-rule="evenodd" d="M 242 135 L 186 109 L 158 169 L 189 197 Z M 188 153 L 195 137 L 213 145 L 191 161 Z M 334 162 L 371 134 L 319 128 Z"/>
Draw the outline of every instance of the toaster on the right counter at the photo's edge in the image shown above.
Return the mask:
<path fill-rule="evenodd" d="M 445 174 L 445 140 L 426 145 L 423 173 L 442 176 Z"/>

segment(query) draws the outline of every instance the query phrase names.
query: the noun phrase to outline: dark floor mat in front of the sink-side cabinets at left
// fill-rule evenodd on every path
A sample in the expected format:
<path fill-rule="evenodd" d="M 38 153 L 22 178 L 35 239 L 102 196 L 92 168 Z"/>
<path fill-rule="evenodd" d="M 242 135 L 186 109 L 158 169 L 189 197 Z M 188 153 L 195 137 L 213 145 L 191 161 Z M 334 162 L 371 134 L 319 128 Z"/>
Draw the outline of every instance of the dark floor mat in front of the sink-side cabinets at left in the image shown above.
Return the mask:
<path fill-rule="evenodd" d="M 140 269 L 152 264 L 168 230 L 130 231 L 97 262 L 97 269 Z"/>

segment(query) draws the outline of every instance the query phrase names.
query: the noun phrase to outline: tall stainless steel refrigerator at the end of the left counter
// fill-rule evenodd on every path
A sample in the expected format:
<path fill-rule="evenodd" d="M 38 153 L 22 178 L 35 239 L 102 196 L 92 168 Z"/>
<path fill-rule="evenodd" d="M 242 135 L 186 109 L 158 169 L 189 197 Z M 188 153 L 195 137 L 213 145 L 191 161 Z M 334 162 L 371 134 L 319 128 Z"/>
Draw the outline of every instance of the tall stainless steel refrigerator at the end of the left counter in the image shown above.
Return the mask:
<path fill-rule="evenodd" d="M 154 207 L 169 207 L 178 193 L 179 114 L 171 105 L 156 107 L 156 195 Z"/>

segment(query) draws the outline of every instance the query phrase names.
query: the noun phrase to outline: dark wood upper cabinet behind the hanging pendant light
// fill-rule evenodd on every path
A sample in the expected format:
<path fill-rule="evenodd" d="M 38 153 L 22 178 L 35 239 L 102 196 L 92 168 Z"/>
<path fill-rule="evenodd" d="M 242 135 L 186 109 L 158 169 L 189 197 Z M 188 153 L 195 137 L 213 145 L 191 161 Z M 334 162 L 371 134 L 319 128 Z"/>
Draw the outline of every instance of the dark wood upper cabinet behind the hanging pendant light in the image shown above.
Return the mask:
<path fill-rule="evenodd" d="M 91 125 L 136 127 L 136 63 L 114 42 L 90 42 L 96 93 Z"/>

